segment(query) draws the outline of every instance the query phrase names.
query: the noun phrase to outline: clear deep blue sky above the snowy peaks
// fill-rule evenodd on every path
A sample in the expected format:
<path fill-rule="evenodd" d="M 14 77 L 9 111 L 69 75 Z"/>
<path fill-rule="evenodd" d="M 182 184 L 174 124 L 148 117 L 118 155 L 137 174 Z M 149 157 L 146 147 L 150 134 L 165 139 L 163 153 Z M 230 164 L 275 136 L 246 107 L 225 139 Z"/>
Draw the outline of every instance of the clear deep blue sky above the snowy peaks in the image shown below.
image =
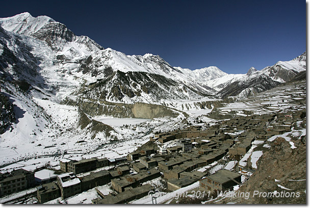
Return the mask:
<path fill-rule="evenodd" d="M 172 66 L 246 73 L 306 50 L 306 3 L 269 1 L 3 1 L 0 16 L 47 15 L 76 35 Z"/>

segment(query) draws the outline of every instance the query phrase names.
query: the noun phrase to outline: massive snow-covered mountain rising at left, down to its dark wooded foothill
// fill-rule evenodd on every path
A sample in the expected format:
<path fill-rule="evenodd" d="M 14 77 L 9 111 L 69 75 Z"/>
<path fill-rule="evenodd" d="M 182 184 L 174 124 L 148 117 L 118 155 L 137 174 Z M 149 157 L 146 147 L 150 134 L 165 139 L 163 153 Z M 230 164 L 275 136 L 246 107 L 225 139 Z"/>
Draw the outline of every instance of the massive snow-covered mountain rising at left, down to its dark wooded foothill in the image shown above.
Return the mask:
<path fill-rule="evenodd" d="M 126 56 L 111 48 L 104 49 L 86 36 L 75 36 L 64 24 L 46 16 L 22 13 L 0 18 L 0 23 L 3 47 L 16 58 L 23 57 L 15 63 L 4 58 L 4 71 L 11 71 L 10 76 L 16 80 L 25 80 L 31 89 L 40 89 L 40 98 L 49 95 L 53 101 L 60 102 L 68 96 L 71 100 L 89 96 L 111 102 L 158 105 L 163 100 L 192 101 L 214 94 L 206 81 L 226 74 L 216 67 L 179 70 L 159 56 Z M 21 68 L 23 63 L 32 66 L 25 70 Z M 132 77 L 127 77 L 127 73 Z M 99 97 L 98 92 L 104 93 Z"/>

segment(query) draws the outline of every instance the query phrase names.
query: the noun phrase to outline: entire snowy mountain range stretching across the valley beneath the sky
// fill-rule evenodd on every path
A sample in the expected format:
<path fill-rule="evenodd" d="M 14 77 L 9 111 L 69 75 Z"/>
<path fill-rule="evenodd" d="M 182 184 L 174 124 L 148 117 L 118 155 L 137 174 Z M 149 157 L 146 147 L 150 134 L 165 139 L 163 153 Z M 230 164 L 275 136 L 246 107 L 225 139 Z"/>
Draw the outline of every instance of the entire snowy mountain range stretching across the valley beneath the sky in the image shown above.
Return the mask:
<path fill-rule="evenodd" d="M 0 24 L 1 85 L 18 85 L 35 98 L 81 108 L 84 102 L 143 102 L 180 111 L 205 109 L 206 101 L 245 98 L 306 70 L 303 53 L 262 70 L 252 67 L 246 74 L 227 74 L 214 66 L 192 71 L 159 56 L 128 56 L 104 48 L 47 16 L 25 12 L 0 18 Z"/>

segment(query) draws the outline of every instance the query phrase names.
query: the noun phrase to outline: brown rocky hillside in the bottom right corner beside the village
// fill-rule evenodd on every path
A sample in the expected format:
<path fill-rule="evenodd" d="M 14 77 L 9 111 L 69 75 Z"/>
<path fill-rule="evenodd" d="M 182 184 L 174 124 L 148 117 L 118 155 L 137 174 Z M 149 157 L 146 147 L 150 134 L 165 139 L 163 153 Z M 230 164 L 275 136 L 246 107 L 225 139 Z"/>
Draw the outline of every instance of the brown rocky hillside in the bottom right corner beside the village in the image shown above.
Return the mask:
<path fill-rule="evenodd" d="M 306 203 L 306 145 L 305 136 L 292 138 L 297 148 L 292 149 L 284 138 L 277 138 L 270 143 L 257 162 L 258 169 L 238 192 L 250 192 L 246 198 L 224 198 L 215 203 L 235 202 L 239 204 L 305 204 Z M 279 186 L 278 186 L 279 185 Z M 295 193 L 295 197 L 259 197 L 253 192 Z M 297 194 L 299 194 L 297 196 Z"/>

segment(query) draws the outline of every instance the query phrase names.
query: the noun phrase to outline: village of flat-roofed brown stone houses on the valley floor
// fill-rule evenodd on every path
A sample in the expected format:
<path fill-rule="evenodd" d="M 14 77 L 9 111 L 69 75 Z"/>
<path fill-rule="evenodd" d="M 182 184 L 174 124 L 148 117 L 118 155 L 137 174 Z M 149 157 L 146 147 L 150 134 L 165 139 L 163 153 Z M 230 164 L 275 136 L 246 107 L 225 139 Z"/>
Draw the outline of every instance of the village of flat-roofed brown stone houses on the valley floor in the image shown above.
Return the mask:
<path fill-rule="evenodd" d="M 194 125 L 157 133 L 126 158 L 62 159 L 61 174 L 49 178 L 35 179 L 34 172 L 24 169 L 0 173 L 0 195 L 36 188 L 39 203 L 57 198 L 66 203 L 66 199 L 95 188 L 97 197 L 91 200 L 93 204 L 128 203 L 149 195 L 150 191 L 159 192 L 159 188 L 150 183 L 154 179 L 161 181 L 165 192 L 195 182 L 199 182 L 200 191 L 232 190 L 255 171 L 241 160 L 252 143 L 267 142 L 273 136 L 297 130 L 300 128 L 297 121 L 302 121 L 299 126 L 305 128 L 305 109 L 237 116 L 206 124 L 205 129 Z M 208 169 L 217 162 L 228 161 L 235 162 L 229 169 L 214 173 Z M 104 194 L 100 190 L 103 185 L 108 185 L 113 192 Z"/>

